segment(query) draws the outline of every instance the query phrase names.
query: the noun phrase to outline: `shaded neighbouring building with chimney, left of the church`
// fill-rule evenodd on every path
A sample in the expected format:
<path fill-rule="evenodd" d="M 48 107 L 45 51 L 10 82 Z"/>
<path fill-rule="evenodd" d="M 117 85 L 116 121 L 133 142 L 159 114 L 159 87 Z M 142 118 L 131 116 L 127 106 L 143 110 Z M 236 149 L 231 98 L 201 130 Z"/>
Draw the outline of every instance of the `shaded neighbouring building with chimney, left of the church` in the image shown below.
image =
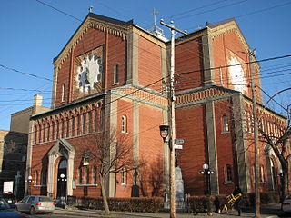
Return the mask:
<path fill-rule="evenodd" d="M 32 114 L 47 110 L 42 106 L 42 96 L 36 94 L 32 107 L 11 114 L 10 131 L 0 130 L 0 192 L 4 182 L 12 181 L 15 197 L 24 196 L 29 119 Z"/>

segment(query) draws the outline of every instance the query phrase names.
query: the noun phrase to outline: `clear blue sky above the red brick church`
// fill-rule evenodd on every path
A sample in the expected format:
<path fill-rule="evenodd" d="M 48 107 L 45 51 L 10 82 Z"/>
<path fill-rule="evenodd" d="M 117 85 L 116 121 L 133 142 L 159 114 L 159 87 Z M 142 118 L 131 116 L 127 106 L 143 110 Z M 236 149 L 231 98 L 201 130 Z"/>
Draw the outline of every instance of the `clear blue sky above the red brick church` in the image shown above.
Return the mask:
<path fill-rule="evenodd" d="M 177 28 L 194 32 L 235 18 L 256 59 L 291 54 L 291 1 L 289 0 L 1 0 L 0 1 L 0 129 L 9 130 L 11 114 L 32 106 L 42 94 L 50 107 L 53 59 L 88 14 L 134 20 L 149 29 L 160 18 Z M 170 31 L 163 26 L 167 37 Z M 177 35 L 178 36 L 178 35 Z M 260 63 L 265 102 L 291 87 L 291 58 Z M 291 91 L 278 94 L 268 104 L 281 113 L 279 104 L 290 104 Z M 278 103 L 278 104 L 277 104 Z"/>

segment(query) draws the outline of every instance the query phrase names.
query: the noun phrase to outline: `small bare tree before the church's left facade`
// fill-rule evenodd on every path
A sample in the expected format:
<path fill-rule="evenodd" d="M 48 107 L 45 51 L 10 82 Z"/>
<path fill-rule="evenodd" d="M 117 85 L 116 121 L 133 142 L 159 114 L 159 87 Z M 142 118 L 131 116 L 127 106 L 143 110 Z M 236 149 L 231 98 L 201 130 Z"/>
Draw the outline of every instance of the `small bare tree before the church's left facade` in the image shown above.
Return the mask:
<path fill-rule="evenodd" d="M 98 169 L 105 214 L 110 214 L 105 182 L 110 173 L 130 171 L 136 167 L 132 158 L 132 144 L 128 143 L 125 134 L 116 134 L 115 128 L 96 133 L 88 139 L 87 144 L 80 153 Z"/>

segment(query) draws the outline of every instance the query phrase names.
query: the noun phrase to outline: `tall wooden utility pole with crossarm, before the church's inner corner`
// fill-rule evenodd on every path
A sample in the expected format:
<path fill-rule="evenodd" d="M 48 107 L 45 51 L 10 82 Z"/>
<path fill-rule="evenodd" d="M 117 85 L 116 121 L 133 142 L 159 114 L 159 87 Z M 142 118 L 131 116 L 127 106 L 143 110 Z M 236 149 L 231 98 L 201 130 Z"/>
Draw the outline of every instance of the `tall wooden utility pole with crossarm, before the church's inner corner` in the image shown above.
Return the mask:
<path fill-rule="evenodd" d="M 175 31 L 186 35 L 186 31 L 177 29 L 171 21 L 171 25 L 167 25 L 163 19 L 160 20 L 161 25 L 171 29 L 171 71 L 170 71 L 170 218 L 176 217 L 176 204 L 175 204 L 175 139 L 176 139 L 176 125 L 175 125 Z"/>

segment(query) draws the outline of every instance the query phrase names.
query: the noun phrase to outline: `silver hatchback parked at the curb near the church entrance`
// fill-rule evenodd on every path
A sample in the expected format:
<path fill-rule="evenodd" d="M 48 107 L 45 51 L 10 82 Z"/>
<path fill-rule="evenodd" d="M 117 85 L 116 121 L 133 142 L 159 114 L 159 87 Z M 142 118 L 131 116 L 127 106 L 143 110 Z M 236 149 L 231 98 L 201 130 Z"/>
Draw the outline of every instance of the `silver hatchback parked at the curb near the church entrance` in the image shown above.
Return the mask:
<path fill-rule="evenodd" d="M 53 213 L 55 203 L 47 196 L 25 196 L 20 202 L 15 203 L 15 210 L 34 215 L 35 213 Z"/>

